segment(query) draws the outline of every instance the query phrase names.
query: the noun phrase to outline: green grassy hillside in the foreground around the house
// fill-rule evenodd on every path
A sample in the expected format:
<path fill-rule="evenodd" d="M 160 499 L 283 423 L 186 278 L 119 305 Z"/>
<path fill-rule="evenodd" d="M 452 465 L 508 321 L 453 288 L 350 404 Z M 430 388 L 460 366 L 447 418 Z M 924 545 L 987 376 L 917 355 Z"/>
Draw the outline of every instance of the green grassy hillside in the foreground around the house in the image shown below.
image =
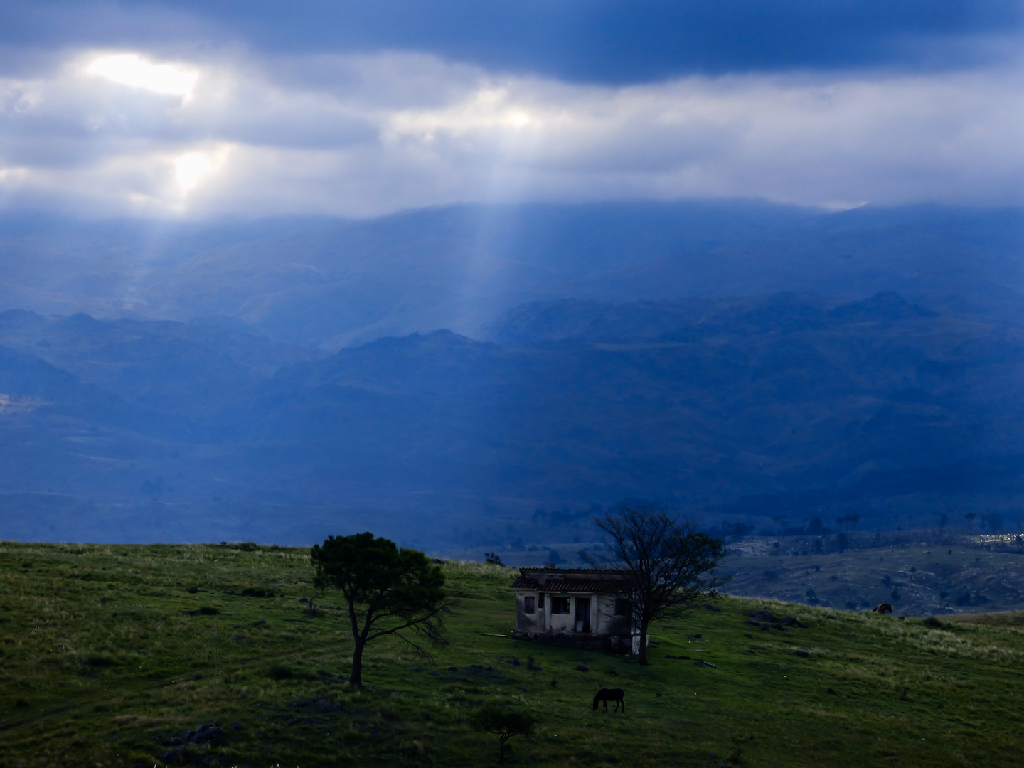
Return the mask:
<path fill-rule="evenodd" d="M 461 600 L 451 645 L 423 659 L 377 641 L 354 691 L 347 628 L 313 594 L 305 550 L 3 544 L 3 764 L 151 766 L 217 722 L 223 744 L 188 748 L 209 765 L 492 765 L 497 739 L 467 724 L 480 702 L 540 718 L 510 742 L 515 765 L 1019 762 L 1024 614 L 901 621 L 727 597 L 658 626 L 641 668 L 503 637 L 514 571 L 444 567 Z M 758 610 L 806 626 L 761 629 Z M 591 711 L 599 687 L 626 689 L 625 715 Z"/>

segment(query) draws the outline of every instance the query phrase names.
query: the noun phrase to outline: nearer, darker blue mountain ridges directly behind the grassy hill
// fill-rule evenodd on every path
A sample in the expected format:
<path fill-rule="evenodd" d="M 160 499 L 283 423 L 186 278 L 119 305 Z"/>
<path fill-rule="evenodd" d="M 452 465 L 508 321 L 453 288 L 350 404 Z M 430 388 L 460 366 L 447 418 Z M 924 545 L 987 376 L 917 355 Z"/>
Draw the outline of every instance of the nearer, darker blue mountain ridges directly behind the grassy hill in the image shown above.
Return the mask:
<path fill-rule="evenodd" d="M 35 404 L 0 413 L 0 493 L 163 510 L 185 538 L 211 509 L 282 540 L 377 510 L 445 543 L 625 498 L 758 526 L 1022 508 L 1024 332 L 1005 323 L 783 294 L 531 304 L 492 332 L 302 359 L 219 328 L 5 313 L 2 393 Z"/>

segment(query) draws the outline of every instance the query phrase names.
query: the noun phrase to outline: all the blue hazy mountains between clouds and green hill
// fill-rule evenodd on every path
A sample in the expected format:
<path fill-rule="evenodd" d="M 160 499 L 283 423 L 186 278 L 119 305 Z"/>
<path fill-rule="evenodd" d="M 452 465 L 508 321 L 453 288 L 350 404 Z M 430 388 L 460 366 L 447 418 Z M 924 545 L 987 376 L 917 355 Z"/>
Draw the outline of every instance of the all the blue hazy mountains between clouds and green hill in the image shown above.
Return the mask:
<path fill-rule="evenodd" d="M 8 218 L 0 537 L 439 550 L 569 541 L 624 499 L 755 529 L 1017 525 L 1021 220 Z"/>

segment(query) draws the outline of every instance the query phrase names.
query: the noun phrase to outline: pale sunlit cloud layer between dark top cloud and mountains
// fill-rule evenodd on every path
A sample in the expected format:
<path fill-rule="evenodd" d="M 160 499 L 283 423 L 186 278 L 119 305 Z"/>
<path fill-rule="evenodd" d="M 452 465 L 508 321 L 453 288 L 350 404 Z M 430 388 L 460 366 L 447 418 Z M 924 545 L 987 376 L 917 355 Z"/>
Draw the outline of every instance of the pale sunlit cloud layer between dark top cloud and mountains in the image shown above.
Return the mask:
<path fill-rule="evenodd" d="M 1022 196 L 1018 67 L 595 87 L 424 54 L 137 58 L 142 75 L 196 72 L 186 94 L 91 74 L 110 57 L 95 55 L 49 79 L 0 77 L 0 207 L 50 196 L 118 215 L 369 216 L 470 201 Z"/>

